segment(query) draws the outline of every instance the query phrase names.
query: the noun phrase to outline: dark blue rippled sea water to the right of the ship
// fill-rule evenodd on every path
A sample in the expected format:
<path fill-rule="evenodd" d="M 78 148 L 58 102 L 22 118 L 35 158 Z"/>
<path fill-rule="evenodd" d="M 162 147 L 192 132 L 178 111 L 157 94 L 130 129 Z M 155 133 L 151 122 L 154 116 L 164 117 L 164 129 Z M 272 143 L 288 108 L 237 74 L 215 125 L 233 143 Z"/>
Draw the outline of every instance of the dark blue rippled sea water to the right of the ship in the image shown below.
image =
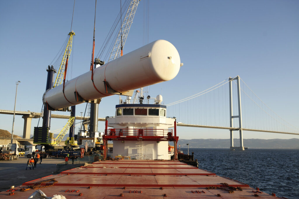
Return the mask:
<path fill-rule="evenodd" d="M 187 154 L 187 148 L 183 148 Z M 299 198 L 299 149 L 197 149 L 199 168 L 228 177 L 268 194 Z"/>

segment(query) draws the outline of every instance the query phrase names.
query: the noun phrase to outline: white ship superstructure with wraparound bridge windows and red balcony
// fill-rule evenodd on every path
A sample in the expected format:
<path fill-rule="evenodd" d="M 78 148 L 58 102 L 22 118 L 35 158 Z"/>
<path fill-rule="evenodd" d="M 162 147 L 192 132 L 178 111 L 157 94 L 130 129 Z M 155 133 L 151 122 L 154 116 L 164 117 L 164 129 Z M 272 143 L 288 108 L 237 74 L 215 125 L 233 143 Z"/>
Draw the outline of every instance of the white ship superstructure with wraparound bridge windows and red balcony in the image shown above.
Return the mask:
<path fill-rule="evenodd" d="M 168 141 L 177 141 L 175 118 L 166 117 L 162 96 L 156 104 L 119 104 L 115 117 L 107 117 L 104 140 L 113 140 L 113 158 L 170 160 Z M 145 101 L 145 100 L 144 100 Z"/>

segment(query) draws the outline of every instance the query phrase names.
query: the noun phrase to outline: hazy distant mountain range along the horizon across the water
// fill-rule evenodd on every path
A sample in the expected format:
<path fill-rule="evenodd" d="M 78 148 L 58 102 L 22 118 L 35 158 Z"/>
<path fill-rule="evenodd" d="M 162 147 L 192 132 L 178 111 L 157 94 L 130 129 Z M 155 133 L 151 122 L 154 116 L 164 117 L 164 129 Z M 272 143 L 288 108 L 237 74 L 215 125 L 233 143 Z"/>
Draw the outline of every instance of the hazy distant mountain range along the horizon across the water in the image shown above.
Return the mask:
<path fill-rule="evenodd" d="M 181 148 L 229 148 L 230 139 L 179 139 Z M 299 139 L 243 139 L 244 147 L 249 149 L 299 149 Z M 234 139 L 234 146 L 240 146 L 239 139 Z"/>

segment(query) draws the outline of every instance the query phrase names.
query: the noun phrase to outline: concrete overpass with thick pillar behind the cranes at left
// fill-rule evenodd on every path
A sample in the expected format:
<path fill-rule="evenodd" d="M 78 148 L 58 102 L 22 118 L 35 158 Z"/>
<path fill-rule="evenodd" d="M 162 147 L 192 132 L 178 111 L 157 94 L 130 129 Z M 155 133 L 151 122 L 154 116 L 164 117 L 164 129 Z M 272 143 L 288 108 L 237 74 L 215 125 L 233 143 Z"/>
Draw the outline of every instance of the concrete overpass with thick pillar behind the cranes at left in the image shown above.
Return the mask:
<path fill-rule="evenodd" d="M 1 110 L 0 114 L 8 114 L 13 115 L 13 110 Z M 32 118 L 40 118 L 43 115 L 43 112 L 31 112 L 31 111 L 16 111 L 15 115 L 22 115 L 24 118 L 24 129 L 23 129 L 23 138 L 29 139 L 30 138 L 30 129 L 31 129 L 31 121 Z M 51 114 L 51 118 L 60 118 L 60 119 L 69 119 L 70 115 L 58 115 L 58 114 Z M 83 120 L 81 116 L 75 116 L 76 120 Z M 84 117 L 84 121 L 88 121 L 89 117 Z M 105 121 L 105 118 L 98 118 L 98 121 Z"/>

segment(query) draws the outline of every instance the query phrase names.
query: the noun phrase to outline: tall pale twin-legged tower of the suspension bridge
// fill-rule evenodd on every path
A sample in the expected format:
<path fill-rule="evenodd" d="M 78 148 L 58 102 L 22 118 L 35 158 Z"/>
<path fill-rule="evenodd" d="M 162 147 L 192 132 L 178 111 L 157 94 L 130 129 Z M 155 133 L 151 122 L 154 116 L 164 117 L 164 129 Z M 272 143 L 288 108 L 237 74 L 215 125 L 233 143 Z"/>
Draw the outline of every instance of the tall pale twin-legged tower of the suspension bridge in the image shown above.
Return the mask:
<path fill-rule="evenodd" d="M 244 150 L 244 145 L 243 145 L 243 130 L 242 130 L 242 109 L 241 109 L 241 95 L 240 95 L 240 77 L 239 75 L 235 78 L 228 78 L 229 80 L 229 108 L 230 108 L 230 127 L 233 128 L 233 119 L 234 118 L 239 118 L 239 133 L 240 133 L 240 146 L 239 147 L 234 147 L 234 130 L 235 129 L 230 129 L 231 132 L 231 150 L 239 149 L 239 150 Z M 237 80 L 237 91 L 238 91 L 238 115 L 233 115 L 233 95 L 232 95 L 232 81 Z"/>

